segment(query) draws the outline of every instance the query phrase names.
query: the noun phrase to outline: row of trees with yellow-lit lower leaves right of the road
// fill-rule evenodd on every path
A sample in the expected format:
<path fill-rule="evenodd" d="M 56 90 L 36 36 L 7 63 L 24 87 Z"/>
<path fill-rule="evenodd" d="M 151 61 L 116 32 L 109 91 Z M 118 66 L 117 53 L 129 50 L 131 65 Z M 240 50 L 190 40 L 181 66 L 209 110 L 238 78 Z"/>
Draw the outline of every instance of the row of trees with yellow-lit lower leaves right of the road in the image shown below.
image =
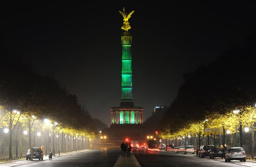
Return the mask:
<path fill-rule="evenodd" d="M 224 145 L 226 130 L 235 133 L 237 126 L 241 147 L 244 127 L 250 127 L 254 140 L 256 52 L 252 41 L 224 52 L 208 66 L 202 65 L 195 72 L 184 74 L 185 82 L 160 121 L 162 138 L 202 137 L 204 127 L 218 128 L 224 135 Z M 251 146 L 253 152 L 254 143 Z"/>

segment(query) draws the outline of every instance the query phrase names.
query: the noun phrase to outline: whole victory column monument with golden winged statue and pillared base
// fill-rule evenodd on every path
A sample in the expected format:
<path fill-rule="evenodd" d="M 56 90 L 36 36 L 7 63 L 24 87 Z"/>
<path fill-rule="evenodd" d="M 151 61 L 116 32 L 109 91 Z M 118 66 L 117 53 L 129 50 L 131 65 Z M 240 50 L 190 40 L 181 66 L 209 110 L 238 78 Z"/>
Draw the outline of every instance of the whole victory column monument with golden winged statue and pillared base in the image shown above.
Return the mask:
<path fill-rule="evenodd" d="M 132 100 L 132 34 L 128 32 L 131 28 L 128 19 L 132 12 L 128 15 L 119 11 L 124 17 L 122 29 L 124 33 L 121 36 L 122 42 L 122 100 L 120 107 L 111 107 L 111 125 L 115 124 L 143 124 L 143 107 L 134 107 Z"/>

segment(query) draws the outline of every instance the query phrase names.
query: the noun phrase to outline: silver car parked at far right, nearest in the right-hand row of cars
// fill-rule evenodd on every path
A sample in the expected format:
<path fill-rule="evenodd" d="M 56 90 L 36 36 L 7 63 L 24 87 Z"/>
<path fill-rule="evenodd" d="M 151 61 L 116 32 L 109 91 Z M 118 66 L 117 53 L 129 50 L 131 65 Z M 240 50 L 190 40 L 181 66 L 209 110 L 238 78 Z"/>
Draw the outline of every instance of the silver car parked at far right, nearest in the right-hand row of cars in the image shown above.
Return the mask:
<path fill-rule="evenodd" d="M 246 153 L 242 147 L 231 147 L 226 151 L 225 162 L 231 160 L 238 160 L 240 162 L 246 161 Z"/>

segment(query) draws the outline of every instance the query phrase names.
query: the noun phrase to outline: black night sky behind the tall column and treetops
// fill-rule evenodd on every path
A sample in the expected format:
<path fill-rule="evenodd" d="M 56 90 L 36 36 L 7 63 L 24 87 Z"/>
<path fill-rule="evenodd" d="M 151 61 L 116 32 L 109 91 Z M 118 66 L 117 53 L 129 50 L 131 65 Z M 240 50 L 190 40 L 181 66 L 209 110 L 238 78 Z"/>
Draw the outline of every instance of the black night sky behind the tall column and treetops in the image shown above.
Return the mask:
<path fill-rule="evenodd" d="M 132 93 L 146 121 L 155 106 L 172 103 L 184 73 L 244 44 L 255 29 L 255 3 L 202 2 L 1 2 L 1 36 L 10 56 L 54 76 L 93 118 L 110 126 L 110 107 L 121 101 L 119 10 L 135 10 L 129 19 Z"/>

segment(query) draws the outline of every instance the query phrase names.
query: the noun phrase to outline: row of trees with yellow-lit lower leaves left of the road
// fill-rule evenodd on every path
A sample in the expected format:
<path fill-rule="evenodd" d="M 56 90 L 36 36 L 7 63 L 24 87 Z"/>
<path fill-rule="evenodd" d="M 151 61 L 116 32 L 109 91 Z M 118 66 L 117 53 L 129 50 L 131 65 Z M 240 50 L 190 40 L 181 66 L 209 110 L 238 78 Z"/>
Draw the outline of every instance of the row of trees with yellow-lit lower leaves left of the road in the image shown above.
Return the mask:
<path fill-rule="evenodd" d="M 77 96 L 68 93 L 54 78 L 35 74 L 30 66 L 8 58 L 7 54 L 0 66 L 0 77 L 0 127 L 10 131 L 10 157 L 11 132 L 19 123 L 31 134 L 35 117 L 57 122 L 56 130 L 66 134 L 91 139 L 98 135 L 91 115 L 78 103 Z"/>

